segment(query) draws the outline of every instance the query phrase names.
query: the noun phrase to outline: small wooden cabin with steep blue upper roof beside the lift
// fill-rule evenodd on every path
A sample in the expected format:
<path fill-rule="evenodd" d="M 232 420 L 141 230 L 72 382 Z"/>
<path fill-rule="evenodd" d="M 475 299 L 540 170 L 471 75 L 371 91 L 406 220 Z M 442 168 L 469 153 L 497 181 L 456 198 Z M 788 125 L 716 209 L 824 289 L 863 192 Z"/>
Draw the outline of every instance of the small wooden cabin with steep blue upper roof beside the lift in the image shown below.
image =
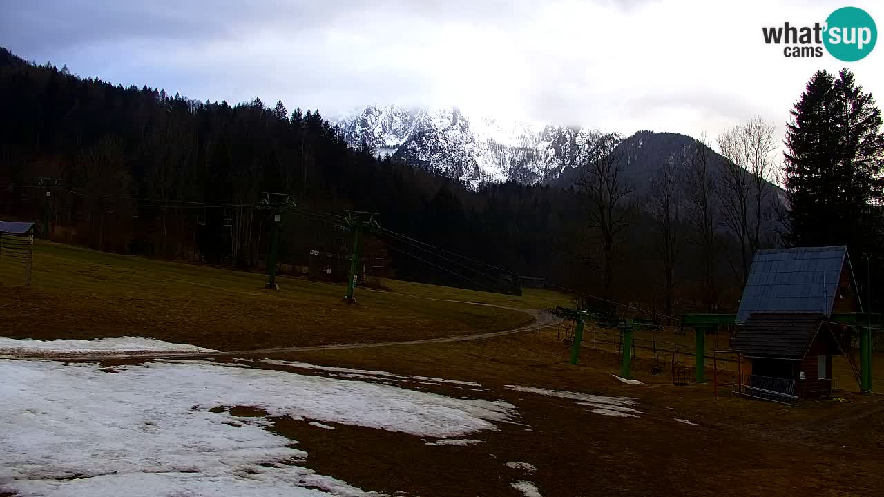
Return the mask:
<path fill-rule="evenodd" d="M 756 251 L 733 343 L 751 360 L 747 394 L 755 389 L 770 400 L 831 394 L 832 356 L 844 350 L 832 314 L 861 310 L 846 247 Z"/>

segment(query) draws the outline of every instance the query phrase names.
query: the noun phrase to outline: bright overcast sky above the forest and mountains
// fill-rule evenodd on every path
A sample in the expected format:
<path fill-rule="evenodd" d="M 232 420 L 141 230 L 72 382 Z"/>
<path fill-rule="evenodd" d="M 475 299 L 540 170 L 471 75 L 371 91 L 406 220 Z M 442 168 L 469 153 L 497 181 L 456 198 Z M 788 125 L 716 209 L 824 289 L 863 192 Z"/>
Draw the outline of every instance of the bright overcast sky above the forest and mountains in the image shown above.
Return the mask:
<path fill-rule="evenodd" d="M 0 0 L 0 44 L 73 73 L 326 118 L 368 103 L 456 104 L 505 119 L 714 138 L 783 129 L 817 69 L 848 66 L 884 103 L 884 47 L 789 59 L 762 26 L 875 2 L 653 0 Z"/>

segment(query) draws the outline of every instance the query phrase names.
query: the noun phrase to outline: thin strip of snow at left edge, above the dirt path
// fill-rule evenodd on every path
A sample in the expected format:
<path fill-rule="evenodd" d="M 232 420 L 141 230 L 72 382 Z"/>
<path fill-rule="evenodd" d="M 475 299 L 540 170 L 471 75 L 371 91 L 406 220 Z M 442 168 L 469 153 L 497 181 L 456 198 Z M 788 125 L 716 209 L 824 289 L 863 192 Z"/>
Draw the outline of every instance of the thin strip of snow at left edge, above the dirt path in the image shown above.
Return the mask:
<path fill-rule="evenodd" d="M 33 340 L 0 337 L 0 354 L 7 356 L 78 356 L 93 353 L 113 355 L 133 352 L 217 352 L 217 350 L 143 337 L 111 337 L 93 340 Z"/>

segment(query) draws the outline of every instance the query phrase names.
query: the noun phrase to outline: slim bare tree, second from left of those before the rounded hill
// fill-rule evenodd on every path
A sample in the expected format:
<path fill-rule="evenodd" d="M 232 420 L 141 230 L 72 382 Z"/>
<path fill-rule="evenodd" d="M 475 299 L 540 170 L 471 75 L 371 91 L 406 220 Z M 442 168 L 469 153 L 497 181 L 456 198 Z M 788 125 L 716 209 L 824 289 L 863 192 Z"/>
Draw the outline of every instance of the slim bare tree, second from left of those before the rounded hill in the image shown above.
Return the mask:
<path fill-rule="evenodd" d="M 656 221 L 655 247 L 663 264 L 666 311 L 673 315 L 674 268 L 682 251 L 684 230 L 679 207 L 682 180 L 688 157 L 670 156 L 660 165 L 651 180 L 648 211 Z"/>

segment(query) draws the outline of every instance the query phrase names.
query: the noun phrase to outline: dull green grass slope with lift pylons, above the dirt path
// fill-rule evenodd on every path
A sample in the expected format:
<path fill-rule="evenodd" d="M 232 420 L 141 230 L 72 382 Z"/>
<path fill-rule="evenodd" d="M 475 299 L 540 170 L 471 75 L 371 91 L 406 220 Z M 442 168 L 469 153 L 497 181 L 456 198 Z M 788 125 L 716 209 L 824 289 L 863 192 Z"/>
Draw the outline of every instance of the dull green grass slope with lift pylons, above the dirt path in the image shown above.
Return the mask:
<path fill-rule="evenodd" d="M 0 265 L 6 262 L 0 261 Z M 18 269 L 12 268 L 13 273 Z M 551 292 L 525 297 L 387 281 L 393 292 L 107 254 L 51 242 L 34 247 L 30 288 L 0 277 L 0 335 L 88 339 L 137 335 L 221 350 L 347 342 L 421 340 L 513 328 L 527 314 L 415 296 L 539 308 Z M 567 297 L 559 295 L 560 303 Z M 554 304 L 553 304 L 554 305 Z"/>

